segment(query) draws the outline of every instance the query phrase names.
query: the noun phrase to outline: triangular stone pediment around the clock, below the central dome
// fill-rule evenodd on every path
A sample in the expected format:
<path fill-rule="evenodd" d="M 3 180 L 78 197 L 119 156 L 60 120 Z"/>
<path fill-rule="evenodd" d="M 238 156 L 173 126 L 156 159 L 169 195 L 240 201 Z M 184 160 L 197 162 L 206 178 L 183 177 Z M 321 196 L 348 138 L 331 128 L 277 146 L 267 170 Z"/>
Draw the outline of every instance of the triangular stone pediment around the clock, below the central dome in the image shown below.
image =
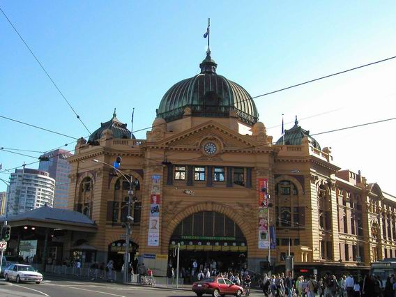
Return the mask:
<path fill-rule="evenodd" d="M 185 130 L 177 135 L 162 139 L 155 143 L 158 146 L 167 146 L 169 148 L 199 148 L 201 142 L 205 139 L 215 139 L 222 144 L 222 149 L 246 149 L 262 146 L 250 136 L 240 135 L 238 132 L 231 130 L 215 121 L 208 121 L 201 125 Z"/>

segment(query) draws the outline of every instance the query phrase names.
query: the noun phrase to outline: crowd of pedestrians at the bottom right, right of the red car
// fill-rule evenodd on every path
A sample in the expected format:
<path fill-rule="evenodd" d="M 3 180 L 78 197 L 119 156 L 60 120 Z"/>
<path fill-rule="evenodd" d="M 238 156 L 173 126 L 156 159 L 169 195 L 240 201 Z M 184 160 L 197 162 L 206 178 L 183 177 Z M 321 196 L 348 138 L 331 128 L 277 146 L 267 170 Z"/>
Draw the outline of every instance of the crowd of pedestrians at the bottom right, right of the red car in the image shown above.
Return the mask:
<path fill-rule="evenodd" d="M 381 279 L 374 275 L 358 277 L 349 274 L 337 279 L 326 273 L 325 277 L 264 275 L 262 289 L 265 296 L 274 297 L 396 297 L 396 278 L 391 275 L 383 285 Z"/>

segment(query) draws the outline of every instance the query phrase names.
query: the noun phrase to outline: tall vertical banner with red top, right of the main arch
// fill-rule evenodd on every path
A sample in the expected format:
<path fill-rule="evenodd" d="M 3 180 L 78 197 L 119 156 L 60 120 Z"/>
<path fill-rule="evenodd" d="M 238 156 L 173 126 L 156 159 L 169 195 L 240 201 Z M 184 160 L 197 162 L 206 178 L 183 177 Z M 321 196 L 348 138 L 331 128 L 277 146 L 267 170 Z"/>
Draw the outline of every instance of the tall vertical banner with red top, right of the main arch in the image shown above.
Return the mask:
<path fill-rule="evenodd" d="M 268 235 L 268 178 L 258 178 L 259 185 L 259 207 L 257 214 L 259 217 L 258 235 L 259 235 L 259 249 L 268 249 L 270 245 L 270 238 Z"/>

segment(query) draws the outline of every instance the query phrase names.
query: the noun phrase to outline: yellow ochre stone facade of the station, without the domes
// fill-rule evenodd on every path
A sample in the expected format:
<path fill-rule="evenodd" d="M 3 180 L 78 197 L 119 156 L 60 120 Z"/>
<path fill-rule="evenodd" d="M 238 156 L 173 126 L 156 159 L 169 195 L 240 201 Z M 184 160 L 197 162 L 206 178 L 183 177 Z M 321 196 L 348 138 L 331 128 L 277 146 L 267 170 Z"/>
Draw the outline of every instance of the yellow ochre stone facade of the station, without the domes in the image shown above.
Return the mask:
<path fill-rule="evenodd" d="M 209 142 L 215 144 L 215 153 L 205 151 Z M 117 156 L 122 158 L 121 171 L 139 181 L 135 196 L 140 218 L 132 225 L 131 241 L 139 246 L 139 257 L 158 255 L 158 263 L 147 261 L 159 275 L 166 273 L 164 255 L 176 227 L 201 211 L 234 221 L 245 236 L 249 268 L 261 271 L 268 249 L 259 248 L 259 178 L 268 179 L 269 224 L 277 238 L 271 250 L 275 268 L 284 267 L 289 242 L 297 273 L 300 268 L 367 268 L 376 259 L 396 257 L 396 197 L 360 174 L 341 171 L 330 148 L 321 149 L 308 136 L 300 145 L 275 144 L 264 123 L 243 122 L 232 110 L 222 117 L 194 116 L 189 108 L 174 121 L 155 119 L 146 139 L 116 138 L 112 130 L 103 130 L 95 144 L 79 140 L 75 155 L 68 158 L 68 209 L 88 215 L 98 231 L 70 236 L 66 252 L 85 239 L 96 248 L 98 261 L 106 261 L 112 243 L 125 240 L 121 225 L 128 188 L 122 176 L 102 163 L 111 165 Z M 185 180 L 175 180 L 176 167 L 185 167 Z M 204 181 L 188 177 L 195 167 L 205 168 Z M 214 167 L 224 168 L 224 181 L 213 181 Z M 236 168 L 243 169 L 244 185 L 234 183 Z M 158 246 L 148 245 L 153 176 L 160 176 Z"/>

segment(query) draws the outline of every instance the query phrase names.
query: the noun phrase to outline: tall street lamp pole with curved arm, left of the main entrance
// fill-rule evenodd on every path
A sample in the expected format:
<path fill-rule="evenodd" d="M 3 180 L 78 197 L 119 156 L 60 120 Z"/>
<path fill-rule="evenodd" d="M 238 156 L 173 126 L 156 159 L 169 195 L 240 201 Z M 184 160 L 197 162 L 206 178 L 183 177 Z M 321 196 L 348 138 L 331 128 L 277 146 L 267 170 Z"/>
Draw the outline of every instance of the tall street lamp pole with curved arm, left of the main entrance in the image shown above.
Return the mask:
<path fill-rule="evenodd" d="M 137 181 L 137 179 L 133 179 L 133 176 L 130 176 L 130 178 L 128 178 L 123 172 L 121 172 L 121 170 L 119 168 L 116 168 L 113 165 L 110 165 L 106 162 L 102 162 L 100 160 L 97 159 L 93 159 L 93 162 L 98 162 L 98 163 L 102 163 L 104 165 L 107 165 L 109 167 L 112 167 L 113 169 L 116 170 L 116 172 L 119 172 L 123 178 L 125 178 L 126 181 L 128 181 L 129 183 L 129 190 L 128 190 L 128 213 L 126 215 L 126 231 L 125 231 L 125 258 L 124 258 L 124 275 L 123 275 L 123 281 L 124 283 L 128 282 L 128 271 L 129 271 L 129 238 L 130 238 L 130 223 L 133 222 L 133 218 L 130 215 L 130 210 L 131 210 L 131 206 L 135 206 L 135 199 L 133 199 L 133 193 L 135 192 L 135 187 L 138 185 L 139 181 Z M 118 165 L 117 167 L 119 167 L 121 163 L 121 157 L 117 157 L 116 158 L 116 162 L 114 162 L 114 165 Z"/>

